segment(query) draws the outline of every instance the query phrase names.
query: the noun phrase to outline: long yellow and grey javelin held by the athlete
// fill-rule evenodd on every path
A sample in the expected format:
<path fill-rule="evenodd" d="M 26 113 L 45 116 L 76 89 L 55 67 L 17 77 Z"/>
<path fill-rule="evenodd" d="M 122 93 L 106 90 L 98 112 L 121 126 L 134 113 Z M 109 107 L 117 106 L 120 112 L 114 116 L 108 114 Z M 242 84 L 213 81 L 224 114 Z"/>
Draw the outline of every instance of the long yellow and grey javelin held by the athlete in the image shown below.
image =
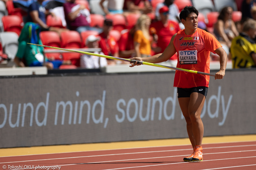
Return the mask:
<path fill-rule="evenodd" d="M 27 43 L 27 44 L 31 44 L 31 43 Z M 49 47 L 49 48 L 60 49 L 60 50 L 69 51 L 69 52 L 76 52 L 76 53 L 80 53 L 80 54 L 87 54 L 87 55 L 93 55 L 93 56 L 97 56 L 97 57 L 104 57 L 104 58 L 108 58 L 108 59 L 126 61 L 126 62 L 130 62 L 130 63 L 135 63 L 137 61 L 138 64 L 161 67 L 161 68 L 168 68 L 168 69 L 173 69 L 173 70 L 179 70 L 179 71 L 185 71 L 185 72 L 189 72 L 189 73 L 203 74 L 203 75 L 208 75 L 208 76 L 214 76 L 215 77 L 214 74 L 204 73 L 204 72 L 195 71 L 195 70 L 187 70 L 187 69 L 183 69 L 183 68 L 176 68 L 176 67 L 171 67 L 171 66 L 163 66 L 163 65 L 159 65 L 159 64 L 147 63 L 147 62 L 144 62 L 144 61 L 130 60 L 130 59 L 119 58 L 119 57 L 111 57 L 111 56 L 108 56 L 108 55 L 94 54 L 94 53 L 91 53 L 91 52 L 84 52 L 84 51 L 77 51 L 77 50 L 73 50 L 73 49 L 44 46 L 44 45 L 39 45 L 39 44 L 31 44 L 31 45 L 41 46 L 41 47 Z"/>

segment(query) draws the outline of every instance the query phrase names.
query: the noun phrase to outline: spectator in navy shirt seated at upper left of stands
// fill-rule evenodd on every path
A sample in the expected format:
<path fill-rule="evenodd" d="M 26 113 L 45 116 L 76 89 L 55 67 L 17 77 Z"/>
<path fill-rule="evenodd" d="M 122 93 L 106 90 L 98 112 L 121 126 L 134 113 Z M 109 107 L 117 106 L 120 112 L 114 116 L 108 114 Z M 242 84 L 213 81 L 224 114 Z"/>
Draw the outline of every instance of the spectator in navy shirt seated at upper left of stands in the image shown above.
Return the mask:
<path fill-rule="evenodd" d="M 41 31 L 56 31 L 59 34 L 62 31 L 67 31 L 68 29 L 65 28 L 49 27 L 46 25 L 46 15 L 51 14 L 53 17 L 55 17 L 55 15 L 54 13 L 50 13 L 48 10 L 45 10 L 42 6 L 43 1 L 44 0 L 37 0 L 29 6 L 27 21 L 39 24 Z"/>

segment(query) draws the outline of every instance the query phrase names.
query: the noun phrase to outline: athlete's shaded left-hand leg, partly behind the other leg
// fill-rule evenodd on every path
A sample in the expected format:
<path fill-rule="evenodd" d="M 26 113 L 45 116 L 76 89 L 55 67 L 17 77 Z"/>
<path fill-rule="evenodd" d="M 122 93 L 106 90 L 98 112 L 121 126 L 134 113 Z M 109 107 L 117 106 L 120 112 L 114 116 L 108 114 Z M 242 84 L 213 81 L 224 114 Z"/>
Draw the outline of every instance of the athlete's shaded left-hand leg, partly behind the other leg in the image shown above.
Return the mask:
<path fill-rule="evenodd" d="M 193 131 L 192 131 L 192 122 L 190 120 L 190 116 L 189 116 L 189 112 L 188 112 L 190 98 L 189 97 L 181 97 L 181 98 L 178 98 L 178 100 L 179 100 L 182 114 L 187 123 L 188 138 L 192 144 L 192 148 L 194 148 L 195 147 L 195 139 L 194 139 L 194 135 L 193 135 Z"/>

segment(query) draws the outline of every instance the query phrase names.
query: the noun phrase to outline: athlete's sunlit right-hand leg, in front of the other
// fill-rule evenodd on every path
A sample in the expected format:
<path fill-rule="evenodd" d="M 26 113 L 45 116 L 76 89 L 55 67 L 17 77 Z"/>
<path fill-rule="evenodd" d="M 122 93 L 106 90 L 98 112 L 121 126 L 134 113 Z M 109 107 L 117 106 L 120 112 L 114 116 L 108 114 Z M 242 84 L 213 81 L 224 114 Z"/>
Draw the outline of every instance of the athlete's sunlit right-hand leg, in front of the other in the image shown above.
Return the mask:
<path fill-rule="evenodd" d="M 188 114 L 192 124 L 193 137 L 195 139 L 195 144 L 201 146 L 203 140 L 203 122 L 201 120 L 201 111 L 203 109 L 203 104 L 205 97 L 201 93 L 191 93 Z"/>

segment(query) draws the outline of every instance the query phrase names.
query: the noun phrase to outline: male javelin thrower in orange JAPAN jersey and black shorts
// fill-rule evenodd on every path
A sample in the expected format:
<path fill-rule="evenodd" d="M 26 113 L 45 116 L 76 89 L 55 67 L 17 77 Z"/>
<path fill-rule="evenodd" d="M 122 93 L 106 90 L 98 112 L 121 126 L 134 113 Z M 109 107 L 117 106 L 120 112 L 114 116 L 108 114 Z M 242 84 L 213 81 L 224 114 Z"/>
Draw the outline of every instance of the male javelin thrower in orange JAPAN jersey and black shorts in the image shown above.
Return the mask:
<path fill-rule="evenodd" d="M 148 58 L 132 58 L 133 60 L 149 63 L 167 61 L 176 52 L 178 53 L 177 68 L 210 72 L 210 51 L 220 56 L 220 71 L 215 74 L 216 79 L 223 79 L 225 75 L 227 54 L 221 44 L 210 33 L 197 28 L 198 10 L 195 7 L 186 6 L 180 13 L 180 19 L 185 29 L 174 34 L 170 44 L 163 53 Z M 133 66 L 139 64 L 131 63 Z M 194 74 L 184 71 L 176 71 L 174 86 L 178 88 L 178 100 L 183 116 L 187 123 L 187 133 L 194 152 L 184 161 L 203 161 L 203 122 L 200 118 L 207 88 L 209 76 Z"/>

